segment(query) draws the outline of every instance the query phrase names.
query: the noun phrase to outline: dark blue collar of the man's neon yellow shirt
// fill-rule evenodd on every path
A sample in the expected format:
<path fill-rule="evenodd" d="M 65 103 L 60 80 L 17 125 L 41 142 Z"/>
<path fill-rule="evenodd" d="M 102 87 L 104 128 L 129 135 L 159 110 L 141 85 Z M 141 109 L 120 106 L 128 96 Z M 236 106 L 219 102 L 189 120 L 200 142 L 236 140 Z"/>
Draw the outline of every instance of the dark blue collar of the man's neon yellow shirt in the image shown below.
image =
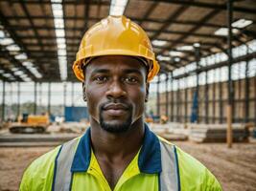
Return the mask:
<path fill-rule="evenodd" d="M 90 159 L 91 136 L 89 128 L 80 139 L 72 162 L 71 172 L 87 171 Z M 142 173 L 155 174 L 162 171 L 160 142 L 159 139 L 151 132 L 147 124 L 145 124 L 145 135 L 143 145 L 139 153 L 138 166 Z"/>

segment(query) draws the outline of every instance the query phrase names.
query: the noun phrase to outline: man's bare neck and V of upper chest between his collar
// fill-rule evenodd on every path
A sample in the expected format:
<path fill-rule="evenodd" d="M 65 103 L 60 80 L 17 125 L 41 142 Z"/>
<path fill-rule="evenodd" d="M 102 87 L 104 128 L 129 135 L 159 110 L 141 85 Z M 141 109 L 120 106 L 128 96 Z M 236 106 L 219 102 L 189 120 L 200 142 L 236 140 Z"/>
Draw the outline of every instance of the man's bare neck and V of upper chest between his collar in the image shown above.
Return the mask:
<path fill-rule="evenodd" d="M 99 123 L 91 121 L 93 151 L 112 190 L 139 151 L 144 129 L 143 118 L 134 122 L 128 132 L 123 134 L 108 133 Z"/>

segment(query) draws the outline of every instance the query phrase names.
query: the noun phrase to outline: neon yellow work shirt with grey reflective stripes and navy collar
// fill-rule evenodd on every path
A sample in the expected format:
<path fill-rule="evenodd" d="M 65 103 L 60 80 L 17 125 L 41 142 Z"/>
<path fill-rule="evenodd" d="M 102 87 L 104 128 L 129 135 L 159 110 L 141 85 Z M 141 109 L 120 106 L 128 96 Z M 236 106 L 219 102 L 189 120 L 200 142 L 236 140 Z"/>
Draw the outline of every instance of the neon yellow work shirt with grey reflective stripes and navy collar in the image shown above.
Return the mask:
<path fill-rule="evenodd" d="M 20 190 L 111 191 L 91 149 L 90 130 L 36 159 Z M 145 125 L 143 145 L 114 191 L 221 191 L 216 178 L 197 160 Z"/>

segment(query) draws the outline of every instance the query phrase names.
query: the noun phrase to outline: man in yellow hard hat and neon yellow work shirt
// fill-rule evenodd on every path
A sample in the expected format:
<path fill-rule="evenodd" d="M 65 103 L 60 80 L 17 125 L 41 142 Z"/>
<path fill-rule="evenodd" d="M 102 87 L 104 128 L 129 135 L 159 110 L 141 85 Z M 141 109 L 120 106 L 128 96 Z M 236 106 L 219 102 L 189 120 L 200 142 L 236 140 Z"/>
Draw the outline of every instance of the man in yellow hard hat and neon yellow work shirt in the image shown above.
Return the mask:
<path fill-rule="evenodd" d="M 86 32 L 73 70 L 90 129 L 31 164 L 20 190 L 221 190 L 218 180 L 144 123 L 149 82 L 159 71 L 151 42 L 124 16 Z"/>

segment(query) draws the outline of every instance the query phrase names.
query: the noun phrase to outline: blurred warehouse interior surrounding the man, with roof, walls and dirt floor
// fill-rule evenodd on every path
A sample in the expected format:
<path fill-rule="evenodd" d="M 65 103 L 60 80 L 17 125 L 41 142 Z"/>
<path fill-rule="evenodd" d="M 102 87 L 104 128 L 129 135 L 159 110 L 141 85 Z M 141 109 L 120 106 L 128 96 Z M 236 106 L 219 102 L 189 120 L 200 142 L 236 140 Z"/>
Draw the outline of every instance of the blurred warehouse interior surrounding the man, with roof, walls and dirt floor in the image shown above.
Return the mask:
<path fill-rule="evenodd" d="M 72 65 L 84 32 L 122 14 L 147 32 L 161 67 L 145 111 L 152 131 L 198 156 L 224 190 L 255 189 L 255 1 L 1 0 L 0 163 L 24 161 L 0 190 L 17 190 L 32 159 L 89 127 Z M 44 126 L 24 128 L 30 117 Z"/>

